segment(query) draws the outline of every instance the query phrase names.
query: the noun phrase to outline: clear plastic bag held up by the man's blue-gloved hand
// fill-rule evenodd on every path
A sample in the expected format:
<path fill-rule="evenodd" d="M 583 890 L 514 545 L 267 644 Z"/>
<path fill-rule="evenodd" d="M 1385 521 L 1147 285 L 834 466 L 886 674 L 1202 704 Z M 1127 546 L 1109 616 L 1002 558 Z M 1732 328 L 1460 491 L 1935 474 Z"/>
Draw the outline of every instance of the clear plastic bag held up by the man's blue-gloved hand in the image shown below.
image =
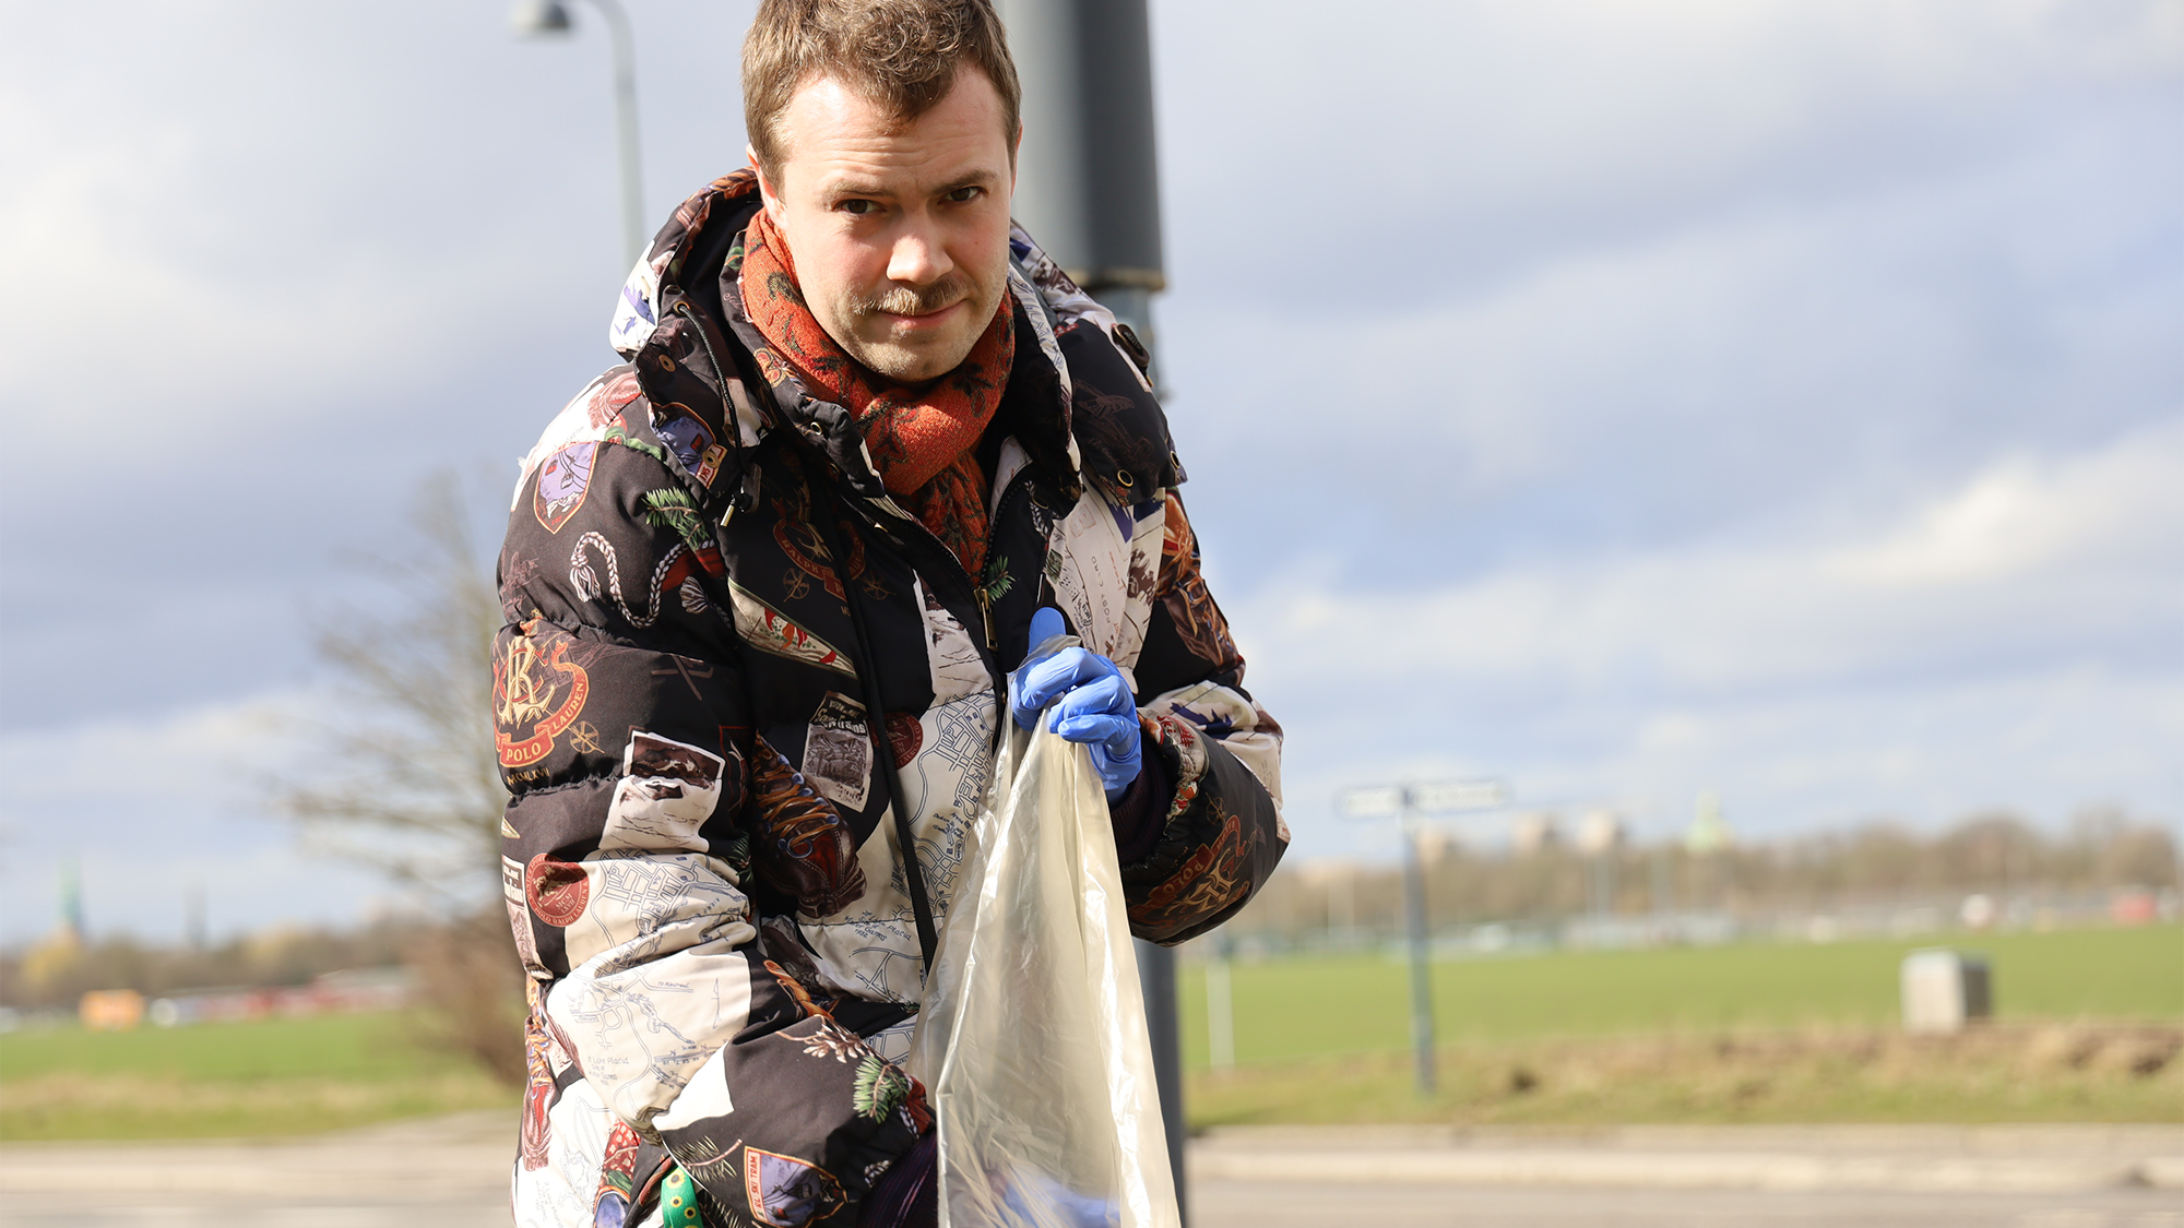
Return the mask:
<path fill-rule="evenodd" d="M 1182 1228 L 1085 747 L 1011 721 L 959 883 L 911 1042 L 941 1228 Z"/>

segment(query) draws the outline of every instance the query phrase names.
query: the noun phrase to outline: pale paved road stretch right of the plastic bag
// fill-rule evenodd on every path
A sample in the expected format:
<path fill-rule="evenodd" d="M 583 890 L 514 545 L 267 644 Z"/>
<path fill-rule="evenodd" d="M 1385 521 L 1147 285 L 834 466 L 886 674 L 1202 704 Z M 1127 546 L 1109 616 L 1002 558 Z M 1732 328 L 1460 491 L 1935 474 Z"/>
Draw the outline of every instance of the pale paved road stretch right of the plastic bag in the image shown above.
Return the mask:
<path fill-rule="evenodd" d="M 1192 1228 L 2184 1228 L 2184 1130 L 1254 1127 Z"/>

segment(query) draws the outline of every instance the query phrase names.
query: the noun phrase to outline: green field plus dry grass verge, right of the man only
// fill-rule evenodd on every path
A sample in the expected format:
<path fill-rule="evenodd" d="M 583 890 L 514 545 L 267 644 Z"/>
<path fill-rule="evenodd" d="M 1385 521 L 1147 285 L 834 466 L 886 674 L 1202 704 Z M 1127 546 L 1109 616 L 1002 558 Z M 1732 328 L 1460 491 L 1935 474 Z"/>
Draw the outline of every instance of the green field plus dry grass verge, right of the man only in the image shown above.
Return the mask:
<path fill-rule="evenodd" d="M 1409 968 L 1232 968 L 1208 1068 L 1182 977 L 1192 1125 L 1446 1121 L 2184 1121 L 2184 926 L 1992 935 L 1994 1025 L 1911 1038 L 1896 966 L 1933 942 L 1540 953 L 1433 966 L 1439 1095 L 1413 1088 Z"/>

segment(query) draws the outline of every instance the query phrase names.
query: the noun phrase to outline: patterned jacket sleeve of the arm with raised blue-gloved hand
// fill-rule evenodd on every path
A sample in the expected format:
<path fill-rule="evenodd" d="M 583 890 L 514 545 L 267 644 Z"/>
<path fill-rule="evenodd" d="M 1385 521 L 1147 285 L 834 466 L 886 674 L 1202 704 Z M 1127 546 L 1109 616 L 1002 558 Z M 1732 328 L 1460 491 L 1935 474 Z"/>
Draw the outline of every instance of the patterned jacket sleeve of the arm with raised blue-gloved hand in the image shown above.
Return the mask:
<path fill-rule="evenodd" d="M 1147 747 L 1173 791 L 1153 850 L 1123 865 L 1123 889 L 1131 931 L 1177 944 L 1243 909 L 1282 861 L 1289 824 L 1282 725 L 1243 688 L 1243 653 L 1173 492 L 1136 677 Z"/>

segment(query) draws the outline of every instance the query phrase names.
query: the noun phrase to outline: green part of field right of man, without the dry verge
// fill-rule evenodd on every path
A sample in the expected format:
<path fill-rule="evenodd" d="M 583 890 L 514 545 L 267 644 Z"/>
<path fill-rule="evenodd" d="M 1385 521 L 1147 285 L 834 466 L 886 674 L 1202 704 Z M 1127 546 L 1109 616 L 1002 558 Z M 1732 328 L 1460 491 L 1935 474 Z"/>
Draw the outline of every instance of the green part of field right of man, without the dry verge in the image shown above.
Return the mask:
<path fill-rule="evenodd" d="M 1926 942 L 1562 950 L 1433 964 L 1444 1042 L 1885 1027 L 1896 966 Z M 2184 926 L 2007 933 L 1957 942 L 1994 968 L 2001 1020 L 2184 1020 Z M 1374 955 L 1236 964 L 1236 1060 L 1411 1044 L 1409 968 Z M 1208 1066 L 1206 968 L 1182 975 L 1184 1064 Z"/>

